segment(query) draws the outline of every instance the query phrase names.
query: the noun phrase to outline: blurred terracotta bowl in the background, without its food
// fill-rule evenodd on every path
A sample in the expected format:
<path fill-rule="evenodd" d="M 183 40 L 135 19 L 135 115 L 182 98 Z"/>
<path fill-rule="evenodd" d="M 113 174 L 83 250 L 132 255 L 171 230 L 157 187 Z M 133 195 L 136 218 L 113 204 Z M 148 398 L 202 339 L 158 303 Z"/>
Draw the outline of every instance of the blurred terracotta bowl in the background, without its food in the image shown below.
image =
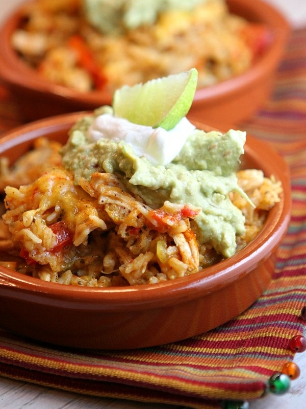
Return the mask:
<path fill-rule="evenodd" d="M 283 55 L 289 34 L 285 18 L 262 0 L 227 0 L 230 10 L 249 21 L 269 28 L 272 42 L 244 74 L 222 83 L 198 89 L 189 117 L 207 124 L 224 126 L 249 117 L 267 98 L 273 76 Z M 8 85 L 20 108 L 23 121 L 77 110 L 92 110 L 110 104 L 107 92 L 78 93 L 44 80 L 18 57 L 11 47 L 11 35 L 20 21 L 20 7 L 0 30 L 0 78 Z"/>

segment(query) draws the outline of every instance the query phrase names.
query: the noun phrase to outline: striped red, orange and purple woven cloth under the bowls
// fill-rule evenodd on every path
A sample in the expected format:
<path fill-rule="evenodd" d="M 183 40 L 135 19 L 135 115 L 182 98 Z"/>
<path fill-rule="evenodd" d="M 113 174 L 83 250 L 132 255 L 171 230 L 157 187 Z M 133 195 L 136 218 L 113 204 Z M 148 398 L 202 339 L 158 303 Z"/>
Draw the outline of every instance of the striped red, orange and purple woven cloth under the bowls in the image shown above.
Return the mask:
<path fill-rule="evenodd" d="M 6 90 L 0 94 L 5 130 L 18 119 Z M 293 359 L 290 339 L 305 326 L 300 311 L 306 304 L 306 29 L 293 32 L 270 100 L 239 127 L 271 142 L 291 168 L 292 221 L 263 296 L 206 334 L 128 352 L 72 352 L 0 330 L 0 375 L 92 396 L 201 409 L 266 392 L 271 375 Z"/>

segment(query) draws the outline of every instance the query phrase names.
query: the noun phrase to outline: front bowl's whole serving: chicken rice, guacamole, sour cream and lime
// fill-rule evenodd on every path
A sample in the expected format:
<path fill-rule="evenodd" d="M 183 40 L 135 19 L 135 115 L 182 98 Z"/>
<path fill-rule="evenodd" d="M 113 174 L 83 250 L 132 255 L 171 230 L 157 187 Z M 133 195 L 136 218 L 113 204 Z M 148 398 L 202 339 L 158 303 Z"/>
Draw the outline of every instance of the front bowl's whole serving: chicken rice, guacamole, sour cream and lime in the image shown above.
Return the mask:
<path fill-rule="evenodd" d="M 91 287 L 156 284 L 196 274 L 258 235 L 281 183 L 238 171 L 245 132 L 205 132 L 187 120 L 196 74 L 117 90 L 113 107 L 71 128 L 62 166 L 56 157 L 33 183 L 5 188 L 18 271 Z M 5 178 L 13 181 L 3 167 L 2 186 Z"/>

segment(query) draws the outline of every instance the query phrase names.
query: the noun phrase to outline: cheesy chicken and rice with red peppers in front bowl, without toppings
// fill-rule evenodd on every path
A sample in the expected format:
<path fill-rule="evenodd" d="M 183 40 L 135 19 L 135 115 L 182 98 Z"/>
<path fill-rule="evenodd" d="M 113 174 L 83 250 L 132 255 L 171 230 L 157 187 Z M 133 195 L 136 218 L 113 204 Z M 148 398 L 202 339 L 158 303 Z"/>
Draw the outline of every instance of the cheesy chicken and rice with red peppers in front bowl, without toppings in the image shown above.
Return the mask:
<path fill-rule="evenodd" d="M 76 184 L 60 150 L 58 142 L 38 139 L 13 166 L 1 159 L 2 265 L 45 281 L 108 287 L 173 280 L 224 259 L 211 243 L 197 241 L 200 208 L 168 200 L 150 207 L 116 173 L 92 172 Z M 261 231 L 282 186 L 261 170 L 236 176 L 247 194 L 228 194 L 245 218 L 238 252 Z"/>

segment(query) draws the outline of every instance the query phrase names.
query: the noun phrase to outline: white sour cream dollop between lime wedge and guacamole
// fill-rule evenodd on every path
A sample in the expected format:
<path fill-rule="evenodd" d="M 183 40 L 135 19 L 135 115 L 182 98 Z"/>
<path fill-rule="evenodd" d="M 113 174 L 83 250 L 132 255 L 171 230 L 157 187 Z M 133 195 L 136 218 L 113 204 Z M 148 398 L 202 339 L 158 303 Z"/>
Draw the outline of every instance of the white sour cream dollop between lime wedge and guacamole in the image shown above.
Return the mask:
<path fill-rule="evenodd" d="M 154 165 L 168 165 L 182 150 L 195 126 L 184 117 L 169 131 L 163 128 L 134 124 L 110 113 L 97 116 L 87 130 L 90 141 L 109 139 L 124 141 L 137 156 L 145 156 Z"/>

